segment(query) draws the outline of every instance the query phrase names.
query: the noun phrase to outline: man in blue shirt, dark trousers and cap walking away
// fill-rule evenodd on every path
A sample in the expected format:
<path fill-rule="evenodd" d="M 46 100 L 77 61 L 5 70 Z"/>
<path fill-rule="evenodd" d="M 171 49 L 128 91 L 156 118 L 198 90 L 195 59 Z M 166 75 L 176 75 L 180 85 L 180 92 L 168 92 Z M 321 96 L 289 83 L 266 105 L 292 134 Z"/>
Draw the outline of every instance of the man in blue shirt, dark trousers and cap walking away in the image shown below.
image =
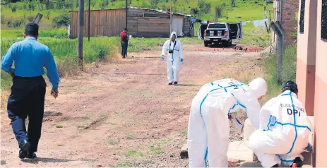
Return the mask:
<path fill-rule="evenodd" d="M 8 117 L 20 148 L 19 158 L 36 158 L 37 145 L 41 137 L 44 114 L 44 97 L 47 84 L 42 75 L 43 67 L 52 83 L 51 94 L 58 96 L 59 75 L 50 49 L 37 42 L 39 26 L 28 23 L 25 40 L 14 43 L 2 57 L 2 70 L 13 76 L 11 95 L 8 97 Z M 12 65 L 14 63 L 14 67 Z M 25 119 L 28 117 L 28 131 Z"/>

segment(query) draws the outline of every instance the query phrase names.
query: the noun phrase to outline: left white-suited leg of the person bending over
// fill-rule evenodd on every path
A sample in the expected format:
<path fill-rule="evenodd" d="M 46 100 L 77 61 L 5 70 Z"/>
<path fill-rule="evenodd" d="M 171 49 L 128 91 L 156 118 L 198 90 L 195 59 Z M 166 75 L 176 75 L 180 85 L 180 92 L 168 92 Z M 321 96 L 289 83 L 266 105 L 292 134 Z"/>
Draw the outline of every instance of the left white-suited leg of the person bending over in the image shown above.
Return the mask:
<path fill-rule="evenodd" d="M 194 102 L 191 105 L 187 138 L 189 167 L 205 167 L 207 150 L 206 126 L 198 109 L 199 104 Z"/>

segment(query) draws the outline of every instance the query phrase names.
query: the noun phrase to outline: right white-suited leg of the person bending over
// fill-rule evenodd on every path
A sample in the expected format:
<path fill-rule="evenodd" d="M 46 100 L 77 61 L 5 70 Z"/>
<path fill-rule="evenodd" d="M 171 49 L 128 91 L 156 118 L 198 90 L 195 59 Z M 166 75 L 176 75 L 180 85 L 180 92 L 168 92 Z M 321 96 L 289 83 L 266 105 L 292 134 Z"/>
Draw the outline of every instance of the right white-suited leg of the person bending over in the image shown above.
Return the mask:
<path fill-rule="evenodd" d="M 230 122 L 227 114 L 215 108 L 207 114 L 203 113 L 203 119 L 208 133 L 209 166 L 228 167 L 227 150 L 230 143 Z"/>

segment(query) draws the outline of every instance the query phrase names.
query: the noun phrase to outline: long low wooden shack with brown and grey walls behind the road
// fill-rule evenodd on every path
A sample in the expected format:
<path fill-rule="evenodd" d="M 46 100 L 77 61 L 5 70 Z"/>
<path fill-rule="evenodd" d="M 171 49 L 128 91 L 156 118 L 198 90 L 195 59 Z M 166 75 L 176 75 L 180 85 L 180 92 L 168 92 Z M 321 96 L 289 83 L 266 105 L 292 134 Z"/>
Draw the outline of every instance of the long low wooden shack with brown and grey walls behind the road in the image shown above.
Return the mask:
<path fill-rule="evenodd" d="M 119 36 L 126 26 L 126 9 L 90 11 L 90 37 Z M 69 37 L 78 35 L 78 11 L 71 12 Z M 172 14 L 172 28 L 180 37 L 194 37 L 191 15 Z M 148 8 L 129 7 L 127 10 L 128 34 L 133 37 L 169 37 L 170 13 Z M 88 11 L 84 11 L 85 37 L 88 36 Z"/>

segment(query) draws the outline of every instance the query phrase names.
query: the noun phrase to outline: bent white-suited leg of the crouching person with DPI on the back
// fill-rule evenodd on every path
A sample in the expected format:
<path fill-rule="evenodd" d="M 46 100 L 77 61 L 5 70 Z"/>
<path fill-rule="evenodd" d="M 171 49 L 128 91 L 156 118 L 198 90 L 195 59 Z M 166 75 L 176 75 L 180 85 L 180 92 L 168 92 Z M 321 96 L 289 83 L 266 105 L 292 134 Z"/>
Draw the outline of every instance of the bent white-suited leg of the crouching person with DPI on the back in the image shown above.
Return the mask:
<path fill-rule="evenodd" d="M 256 130 L 249 137 L 249 147 L 254 151 L 263 167 L 273 167 L 275 164 L 281 164 L 276 153 L 287 150 L 278 140 L 274 140 L 270 134 L 271 131 Z"/>

